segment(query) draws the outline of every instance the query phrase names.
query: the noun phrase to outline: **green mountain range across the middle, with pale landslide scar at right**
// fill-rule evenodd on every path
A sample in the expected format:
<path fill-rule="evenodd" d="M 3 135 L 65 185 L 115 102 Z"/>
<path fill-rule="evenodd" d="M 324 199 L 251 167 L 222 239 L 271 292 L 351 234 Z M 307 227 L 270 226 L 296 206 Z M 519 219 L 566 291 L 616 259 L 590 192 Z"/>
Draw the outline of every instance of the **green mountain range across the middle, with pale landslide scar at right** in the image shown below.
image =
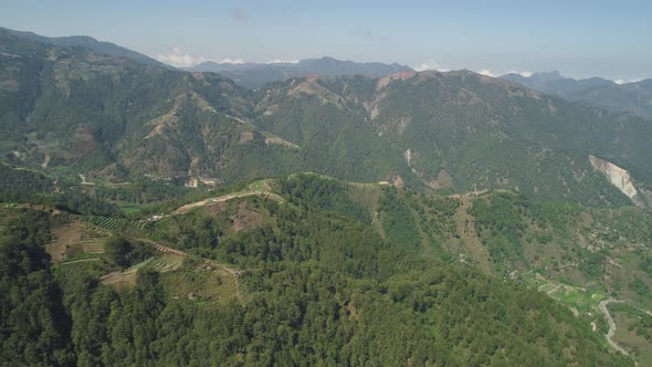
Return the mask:
<path fill-rule="evenodd" d="M 650 122 L 473 72 L 311 75 L 251 91 L 213 73 L 0 38 L 0 149 L 19 165 L 114 181 L 314 170 L 450 192 L 650 203 Z"/>

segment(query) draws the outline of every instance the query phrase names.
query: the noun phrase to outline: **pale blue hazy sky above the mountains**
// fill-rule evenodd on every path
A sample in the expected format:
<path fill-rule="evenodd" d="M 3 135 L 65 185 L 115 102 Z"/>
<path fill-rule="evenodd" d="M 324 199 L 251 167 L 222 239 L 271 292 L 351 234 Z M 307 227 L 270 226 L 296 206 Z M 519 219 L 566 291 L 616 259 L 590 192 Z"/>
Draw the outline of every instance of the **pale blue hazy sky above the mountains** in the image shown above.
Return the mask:
<path fill-rule="evenodd" d="M 490 75 L 652 77 L 652 1 L 0 0 L 0 27 L 91 35 L 176 66 L 328 55 Z"/>

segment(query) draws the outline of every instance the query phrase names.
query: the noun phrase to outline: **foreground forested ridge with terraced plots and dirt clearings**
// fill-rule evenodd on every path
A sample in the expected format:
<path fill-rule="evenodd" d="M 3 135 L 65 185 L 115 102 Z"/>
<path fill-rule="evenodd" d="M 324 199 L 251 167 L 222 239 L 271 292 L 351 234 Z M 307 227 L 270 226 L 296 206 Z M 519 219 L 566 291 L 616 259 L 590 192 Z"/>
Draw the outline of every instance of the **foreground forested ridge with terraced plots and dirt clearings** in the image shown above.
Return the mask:
<path fill-rule="evenodd" d="M 409 191 L 316 175 L 243 190 L 261 195 L 154 220 L 3 207 L 13 220 L 0 244 L 1 355 L 52 365 L 631 364 L 586 314 L 442 261 L 421 239 L 446 231 L 409 224 Z M 28 290 L 42 291 L 21 297 Z"/>

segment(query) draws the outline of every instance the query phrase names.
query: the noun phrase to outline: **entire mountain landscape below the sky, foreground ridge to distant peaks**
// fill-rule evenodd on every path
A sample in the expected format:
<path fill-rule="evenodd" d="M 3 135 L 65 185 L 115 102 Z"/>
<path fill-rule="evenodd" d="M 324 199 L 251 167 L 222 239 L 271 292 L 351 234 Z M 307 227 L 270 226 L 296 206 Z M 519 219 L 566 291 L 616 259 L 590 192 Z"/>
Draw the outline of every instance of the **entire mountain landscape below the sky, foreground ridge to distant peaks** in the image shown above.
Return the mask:
<path fill-rule="evenodd" d="M 0 360 L 650 364 L 652 122 L 571 96 L 609 83 L 0 29 Z"/>

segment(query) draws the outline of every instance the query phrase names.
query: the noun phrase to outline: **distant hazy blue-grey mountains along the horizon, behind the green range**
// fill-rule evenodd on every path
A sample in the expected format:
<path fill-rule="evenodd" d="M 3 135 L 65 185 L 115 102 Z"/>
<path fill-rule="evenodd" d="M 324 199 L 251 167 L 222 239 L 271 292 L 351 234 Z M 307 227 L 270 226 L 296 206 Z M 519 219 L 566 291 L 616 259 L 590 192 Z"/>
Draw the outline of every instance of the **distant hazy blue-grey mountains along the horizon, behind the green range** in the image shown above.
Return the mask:
<path fill-rule="evenodd" d="M 49 38 L 32 32 L 21 32 L 4 28 L 0 28 L 0 30 L 20 36 L 21 39 L 40 43 L 69 48 L 86 48 L 98 54 L 125 57 L 139 63 L 175 69 L 141 53 L 111 42 L 97 41 L 87 35 Z M 410 66 L 397 63 L 357 63 L 353 61 L 340 61 L 328 56 L 306 59 L 292 63 L 215 63 L 212 61 L 206 61 L 183 70 L 190 72 L 219 73 L 249 88 L 260 88 L 269 83 L 313 74 L 322 76 L 359 74 L 382 77 L 399 72 L 412 71 Z M 509 73 L 499 76 L 499 78 L 518 83 L 541 93 L 556 95 L 572 102 L 587 103 L 607 111 L 630 112 L 646 118 L 652 117 L 652 80 L 649 78 L 618 84 L 602 77 L 583 80 L 565 77 L 556 71 L 537 72 L 529 76 Z"/>

